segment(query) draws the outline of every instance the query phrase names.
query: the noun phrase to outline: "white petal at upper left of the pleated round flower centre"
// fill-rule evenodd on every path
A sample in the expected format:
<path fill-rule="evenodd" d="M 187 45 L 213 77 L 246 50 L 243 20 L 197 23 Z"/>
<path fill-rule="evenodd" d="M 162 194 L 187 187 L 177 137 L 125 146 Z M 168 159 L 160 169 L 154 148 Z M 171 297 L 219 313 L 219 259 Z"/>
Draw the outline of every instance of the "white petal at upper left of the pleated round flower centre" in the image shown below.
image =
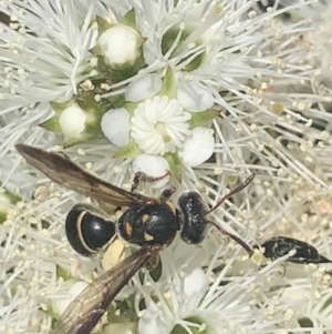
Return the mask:
<path fill-rule="evenodd" d="M 162 88 L 158 74 L 146 74 L 133 80 L 125 92 L 126 101 L 138 102 L 153 98 Z"/>

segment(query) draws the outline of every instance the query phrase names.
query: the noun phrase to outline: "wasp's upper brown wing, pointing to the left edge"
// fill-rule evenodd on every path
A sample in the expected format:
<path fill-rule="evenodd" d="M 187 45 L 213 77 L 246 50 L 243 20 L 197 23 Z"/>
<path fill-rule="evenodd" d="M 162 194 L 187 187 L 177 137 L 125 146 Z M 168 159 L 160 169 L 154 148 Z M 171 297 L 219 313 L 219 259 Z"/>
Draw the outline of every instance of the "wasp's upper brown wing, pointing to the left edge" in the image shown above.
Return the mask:
<path fill-rule="evenodd" d="M 53 182 L 103 202 L 105 205 L 133 206 L 155 201 L 142 194 L 127 192 L 94 176 L 63 154 L 46 152 L 24 144 L 18 144 L 15 148 L 29 164 L 40 170 Z"/>

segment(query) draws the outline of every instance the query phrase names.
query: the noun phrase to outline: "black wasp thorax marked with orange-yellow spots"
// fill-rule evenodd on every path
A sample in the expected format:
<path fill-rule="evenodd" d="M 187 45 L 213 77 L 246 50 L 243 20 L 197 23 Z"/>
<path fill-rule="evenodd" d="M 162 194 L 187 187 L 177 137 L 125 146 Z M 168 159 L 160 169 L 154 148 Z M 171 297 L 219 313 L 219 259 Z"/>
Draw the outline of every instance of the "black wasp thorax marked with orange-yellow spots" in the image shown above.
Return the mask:
<path fill-rule="evenodd" d="M 121 236 L 137 245 L 166 245 L 176 236 L 179 220 L 166 204 L 134 206 L 118 220 Z"/>

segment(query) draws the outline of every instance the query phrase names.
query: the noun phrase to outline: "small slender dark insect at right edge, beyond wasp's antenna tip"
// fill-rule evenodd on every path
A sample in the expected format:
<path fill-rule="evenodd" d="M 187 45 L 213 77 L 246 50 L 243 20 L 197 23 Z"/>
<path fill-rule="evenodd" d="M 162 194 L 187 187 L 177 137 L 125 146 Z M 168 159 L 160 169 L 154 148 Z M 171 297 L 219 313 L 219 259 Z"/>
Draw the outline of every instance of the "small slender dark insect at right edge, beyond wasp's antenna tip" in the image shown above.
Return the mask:
<path fill-rule="evenodd" d="M 278 259 L 289 254 L 294 250 L 295 254 L 287 259 L 288 262 L 293 263 L 331 263 L 332 261 L 320 255 L 318 250 L 308 244 L 307 242 L 288 237 L 288 236 L 273 236 L 261 244 L 264 249 L 264 256 L 269 259 Z"/>

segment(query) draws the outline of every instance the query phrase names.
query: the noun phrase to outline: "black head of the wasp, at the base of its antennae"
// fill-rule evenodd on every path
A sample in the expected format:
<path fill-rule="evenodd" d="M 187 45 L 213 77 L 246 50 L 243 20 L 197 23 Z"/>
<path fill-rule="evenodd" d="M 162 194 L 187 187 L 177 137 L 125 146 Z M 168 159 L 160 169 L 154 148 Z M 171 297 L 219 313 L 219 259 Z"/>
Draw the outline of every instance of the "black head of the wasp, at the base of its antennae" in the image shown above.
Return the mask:
<path fill-rule="evenodd" d="M 206 232 L 205 209 L 199 193 L 188 192 L 178 200 L 183 214 L 181 239 L 186 243 L 203 242 Z"/>

